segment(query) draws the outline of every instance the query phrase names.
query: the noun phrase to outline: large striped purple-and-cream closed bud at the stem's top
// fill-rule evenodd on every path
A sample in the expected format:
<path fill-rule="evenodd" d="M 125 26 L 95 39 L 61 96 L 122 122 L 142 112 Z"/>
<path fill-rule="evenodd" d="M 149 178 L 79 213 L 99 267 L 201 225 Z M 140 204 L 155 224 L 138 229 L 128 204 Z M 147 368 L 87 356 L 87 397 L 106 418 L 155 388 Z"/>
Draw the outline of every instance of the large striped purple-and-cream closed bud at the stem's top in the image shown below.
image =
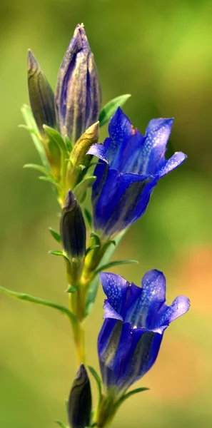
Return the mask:
<path fill-rule="evenodd" d="M 98 120 L 100 106 L 101 88 L 94 55 L 84 25 L 77 25 L 56 85 L 56 118 L 61 135 L 69 136 L 75 143 Z"/>

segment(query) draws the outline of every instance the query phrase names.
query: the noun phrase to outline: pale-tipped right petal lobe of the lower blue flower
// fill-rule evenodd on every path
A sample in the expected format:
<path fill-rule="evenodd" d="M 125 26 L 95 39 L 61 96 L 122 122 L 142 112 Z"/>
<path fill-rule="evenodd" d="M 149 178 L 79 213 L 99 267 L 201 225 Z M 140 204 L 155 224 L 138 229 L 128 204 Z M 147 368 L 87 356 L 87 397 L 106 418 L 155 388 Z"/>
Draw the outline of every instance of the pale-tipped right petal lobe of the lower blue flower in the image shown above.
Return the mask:
<path fill-rule="evenodd" d="M 168 326 L 170 322 L 186 314 L 190 307 L 190 301 L 188 297 L 178 296 L 170 306 L 163 305 L 161 310 L 158 312 L 155 328 Z"/>

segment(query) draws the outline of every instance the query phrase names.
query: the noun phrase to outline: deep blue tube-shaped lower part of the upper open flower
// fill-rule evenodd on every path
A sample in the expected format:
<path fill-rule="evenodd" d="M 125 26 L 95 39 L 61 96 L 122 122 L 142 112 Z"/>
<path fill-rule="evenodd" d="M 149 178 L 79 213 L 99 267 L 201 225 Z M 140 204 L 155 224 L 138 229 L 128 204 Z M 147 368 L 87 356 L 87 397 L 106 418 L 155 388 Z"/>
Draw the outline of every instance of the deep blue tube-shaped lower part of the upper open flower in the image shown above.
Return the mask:
<path fill-rule="evenodd" d="M 131 173 L 122 175 L 108 169 L 107 175 L 106 171 L 102 174 L 101 183 L 99 197 L 95 187 L 92 194 L 94 228 L 111 236 L 143 215 L 157 178 Z"/>

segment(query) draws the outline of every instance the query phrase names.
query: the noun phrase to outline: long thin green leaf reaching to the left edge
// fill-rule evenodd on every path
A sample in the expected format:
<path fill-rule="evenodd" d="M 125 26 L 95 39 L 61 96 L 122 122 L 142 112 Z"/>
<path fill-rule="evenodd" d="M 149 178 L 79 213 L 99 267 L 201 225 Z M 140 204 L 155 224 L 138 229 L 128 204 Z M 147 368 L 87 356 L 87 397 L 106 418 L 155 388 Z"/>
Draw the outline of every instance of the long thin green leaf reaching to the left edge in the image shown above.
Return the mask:
<path fill-rule="evenodd" d="M 49 300 L 39 299 L 39 297 L 27 295 L 23 292 L 15 292 L 12 290 L 8 290 L 8 288 L 4 288 L 1 286 L 0 286 L 0 291 L 3 292 L 5 295 L 14 297 L 15 299 L 24 300 L 25 302 L 35 303 L 36 305 L 53 307 L 54 309 L 57 309 L 59 310 L 59 312 L 66 315 L 69 318 L 69 320 L 71 320 L 71 322 L 74 322 L 74 324 L 78 322 L 76 316 L 72 314 L 72 312 L 65 306 L 58 305 L 57 303 L 50 302 Z"/>

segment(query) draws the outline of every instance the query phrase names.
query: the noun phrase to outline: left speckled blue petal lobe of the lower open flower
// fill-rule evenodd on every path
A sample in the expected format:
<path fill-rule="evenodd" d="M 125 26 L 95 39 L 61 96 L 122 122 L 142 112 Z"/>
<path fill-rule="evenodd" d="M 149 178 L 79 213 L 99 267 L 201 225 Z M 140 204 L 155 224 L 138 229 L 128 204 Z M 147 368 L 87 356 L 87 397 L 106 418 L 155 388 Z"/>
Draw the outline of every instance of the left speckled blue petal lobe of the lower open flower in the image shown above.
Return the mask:
<path fill-rule="evenodd" d="M 108 297 L 108 302 L 113 307 L 113 310 L 120 314 L 129 286 L 128 281 L 115 273 L 101 272 L 99 276 L 104 293 Z"/>

